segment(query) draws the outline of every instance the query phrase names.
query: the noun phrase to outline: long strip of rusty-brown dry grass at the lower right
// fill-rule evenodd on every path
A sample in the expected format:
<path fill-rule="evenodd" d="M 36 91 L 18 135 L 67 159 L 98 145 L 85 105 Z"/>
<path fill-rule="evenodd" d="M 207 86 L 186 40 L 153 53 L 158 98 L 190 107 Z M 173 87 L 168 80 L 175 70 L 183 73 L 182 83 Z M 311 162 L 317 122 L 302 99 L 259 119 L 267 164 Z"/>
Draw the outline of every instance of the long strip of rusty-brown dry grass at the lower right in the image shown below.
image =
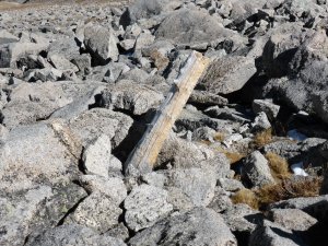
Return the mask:
<path fill-rule="evenodd" d="M 323 177 L 306 178 L 298 181 L 285 179 L 276 185 L 259 189 L 245 189 L 236 192 L 231 199 L 234 203 L 246 203 L 254 209 L 263 209 L 277 201 L 297 197 L 316 197 L 323 184 Z"/>

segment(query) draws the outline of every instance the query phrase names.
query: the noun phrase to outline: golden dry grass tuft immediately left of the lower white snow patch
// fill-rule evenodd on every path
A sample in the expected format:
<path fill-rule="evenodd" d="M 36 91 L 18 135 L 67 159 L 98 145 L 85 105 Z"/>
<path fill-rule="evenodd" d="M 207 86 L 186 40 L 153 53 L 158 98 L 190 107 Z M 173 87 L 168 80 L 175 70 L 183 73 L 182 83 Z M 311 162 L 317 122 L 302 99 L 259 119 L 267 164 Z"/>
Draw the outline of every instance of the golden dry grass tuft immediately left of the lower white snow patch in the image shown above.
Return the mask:
<path fill-rule="evenodd" d="M 266 154 L 266 159 L 269 161 L 271 174 L 277 181 L 291 177 L 292 174 L 289 171 L 289 164 L 285 159 L 271 152 Z"/>

